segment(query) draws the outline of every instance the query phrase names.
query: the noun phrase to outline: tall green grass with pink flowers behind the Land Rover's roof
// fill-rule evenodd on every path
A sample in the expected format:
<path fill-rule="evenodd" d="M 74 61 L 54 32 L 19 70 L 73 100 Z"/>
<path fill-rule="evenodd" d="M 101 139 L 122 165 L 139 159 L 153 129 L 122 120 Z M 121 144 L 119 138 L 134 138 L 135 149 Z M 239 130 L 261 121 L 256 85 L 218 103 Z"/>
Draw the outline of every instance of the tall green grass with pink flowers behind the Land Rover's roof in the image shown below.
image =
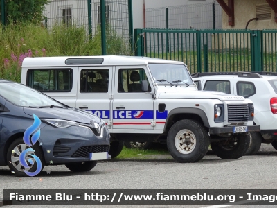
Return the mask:
<path fill-rule="evenodd" d="M 129 41 L 107 27 L 107 54 L 131 55 Z M 91 37 L 84 26 L 37 24 L 0 25 L 0 78 L 20 82 L 21 64 L 26 57 L 101 55 L 100 27 Z"/>

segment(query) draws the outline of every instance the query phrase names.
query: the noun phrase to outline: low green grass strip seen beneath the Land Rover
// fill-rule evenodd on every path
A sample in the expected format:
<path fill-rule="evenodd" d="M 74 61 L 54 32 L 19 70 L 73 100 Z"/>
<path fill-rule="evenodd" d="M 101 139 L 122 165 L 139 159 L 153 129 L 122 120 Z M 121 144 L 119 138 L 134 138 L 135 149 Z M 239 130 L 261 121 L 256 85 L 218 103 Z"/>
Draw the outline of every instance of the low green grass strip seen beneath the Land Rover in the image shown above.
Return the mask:
<path fill-rule="evenodd" d="M 152 148 L 149 150 L 138 150 L 123 147 L 122 152 L 116 159 L 148 159 L 152 155 L 169 155 L 166 148 Z"/>

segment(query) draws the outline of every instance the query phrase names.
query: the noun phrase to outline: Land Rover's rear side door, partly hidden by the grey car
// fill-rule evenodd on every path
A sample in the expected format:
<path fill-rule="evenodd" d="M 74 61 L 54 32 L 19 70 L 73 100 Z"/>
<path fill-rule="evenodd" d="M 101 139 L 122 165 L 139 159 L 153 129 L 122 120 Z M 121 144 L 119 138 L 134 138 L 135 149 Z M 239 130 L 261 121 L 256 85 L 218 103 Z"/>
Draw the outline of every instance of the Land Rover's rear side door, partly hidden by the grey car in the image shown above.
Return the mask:
<path fill-rule="evenodd" d="M 79 67 L 76 107 L 96 114 L 108 124 L 111 122 L 113 68 Z"/>

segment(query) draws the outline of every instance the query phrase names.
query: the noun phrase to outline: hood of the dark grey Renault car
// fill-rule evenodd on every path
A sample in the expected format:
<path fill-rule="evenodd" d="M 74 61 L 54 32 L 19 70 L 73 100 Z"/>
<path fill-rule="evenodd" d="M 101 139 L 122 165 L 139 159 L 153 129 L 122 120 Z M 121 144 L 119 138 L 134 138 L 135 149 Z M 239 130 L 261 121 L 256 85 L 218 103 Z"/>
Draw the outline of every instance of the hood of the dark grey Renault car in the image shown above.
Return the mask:
<path fill-rule="evenodd" d="M 67 121 L 75 121 L 78 123 L 90 123 L 90 121 L 96 121 L 100 123 L 101 119 L 84 110 L 77 108 L 57 108 L 57 107 L 46 107 L 46 108 L 30 108 L 24 107 L 24 112 L 30 116 L 35 114 L 39 119 L 64 119 Z"/>

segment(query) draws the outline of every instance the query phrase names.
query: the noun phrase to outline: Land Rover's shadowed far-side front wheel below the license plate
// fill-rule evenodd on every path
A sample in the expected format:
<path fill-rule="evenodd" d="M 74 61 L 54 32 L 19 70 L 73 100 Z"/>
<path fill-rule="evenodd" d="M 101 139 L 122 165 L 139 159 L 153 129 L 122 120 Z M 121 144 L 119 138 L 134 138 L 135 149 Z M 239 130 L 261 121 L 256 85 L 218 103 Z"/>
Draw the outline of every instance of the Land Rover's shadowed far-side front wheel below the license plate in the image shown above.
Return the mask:
<path fill-rule="evenodd" d="M 250 135 L 235 135 L 226 144 L 212 143 L 211 148 L 215 155 L 222 159 L 238 159 L 247 153 L 250 143 Z"/>

